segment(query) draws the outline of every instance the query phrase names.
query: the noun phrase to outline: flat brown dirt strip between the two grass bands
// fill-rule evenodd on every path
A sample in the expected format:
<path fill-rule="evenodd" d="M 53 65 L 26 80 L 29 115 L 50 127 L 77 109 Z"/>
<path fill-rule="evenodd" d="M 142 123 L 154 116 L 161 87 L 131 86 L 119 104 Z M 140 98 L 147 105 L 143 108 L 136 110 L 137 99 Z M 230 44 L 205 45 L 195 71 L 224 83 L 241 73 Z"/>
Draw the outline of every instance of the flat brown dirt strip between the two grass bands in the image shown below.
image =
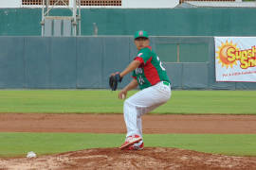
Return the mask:
<path fill-rule="evenodd" d="M 142 116 L 143 133 L 256 134 L 256 115 Z M 0 113 L 1 132 L 125 133 L 122 114 Z"/>

